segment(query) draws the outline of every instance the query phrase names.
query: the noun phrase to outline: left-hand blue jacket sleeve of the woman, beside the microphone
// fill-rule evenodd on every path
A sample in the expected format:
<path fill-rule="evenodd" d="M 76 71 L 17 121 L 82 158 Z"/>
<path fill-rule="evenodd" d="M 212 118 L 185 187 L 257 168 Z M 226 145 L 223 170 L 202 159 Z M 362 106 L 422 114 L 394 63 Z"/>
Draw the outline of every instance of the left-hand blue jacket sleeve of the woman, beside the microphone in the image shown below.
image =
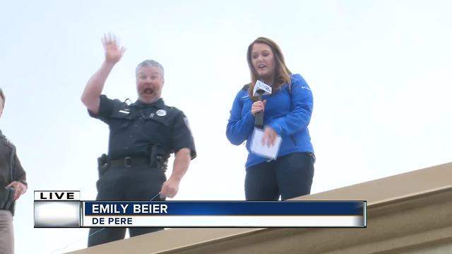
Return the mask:
<path fill-rule="evenodd" d="M 230 111 L 230 118 L 227 121 L 226 136 L 232 145 L 244 143 L 254 128 L 254 116 L 251 114 L 251 109 L 242 117 L 242 97 L 246 95 L 248 92 L 242 90 L 237 93 Z"/>

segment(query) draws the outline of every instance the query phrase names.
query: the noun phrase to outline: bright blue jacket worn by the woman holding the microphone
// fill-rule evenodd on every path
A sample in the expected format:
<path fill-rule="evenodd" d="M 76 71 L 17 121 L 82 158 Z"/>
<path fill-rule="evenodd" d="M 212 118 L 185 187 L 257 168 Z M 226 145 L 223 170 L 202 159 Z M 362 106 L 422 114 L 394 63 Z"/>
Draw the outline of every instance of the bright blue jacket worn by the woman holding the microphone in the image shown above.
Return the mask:
<path fill-rule="evenodd" d="M 266 107 L 263 114 L 264 126 L 270 126 L 281 136 L 282 142 L 278 157 L 293 152 L 312 152 L 314 149 L 309 136 L 308 125 L 311 120 L 313 99 L 309 85 L 299 74 L 290 75 L 291 90 L 285 84 L 273 95 L 264 95 Z M 233 145 L 240 145 L 245 140 L 248 159 L 245 167 L 249 168 L 268 159 L 250 152 L 251 135 L 254 130 L 254 116 L 251 114 L 248 90 L 240 90 L 234 99 L 227 122 L 226 136 Z"/>

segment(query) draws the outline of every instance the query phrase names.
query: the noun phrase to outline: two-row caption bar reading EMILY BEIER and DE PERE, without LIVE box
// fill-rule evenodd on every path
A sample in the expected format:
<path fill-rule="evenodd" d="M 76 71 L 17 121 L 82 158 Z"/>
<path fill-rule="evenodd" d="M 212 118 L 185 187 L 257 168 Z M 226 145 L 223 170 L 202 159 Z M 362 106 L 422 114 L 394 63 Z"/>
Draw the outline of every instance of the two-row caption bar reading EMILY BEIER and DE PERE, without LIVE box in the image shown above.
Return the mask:
<path fill-rule="evenodd" d="M 365 227 L 365 202 L 83 202 L 83 226 Z"/>

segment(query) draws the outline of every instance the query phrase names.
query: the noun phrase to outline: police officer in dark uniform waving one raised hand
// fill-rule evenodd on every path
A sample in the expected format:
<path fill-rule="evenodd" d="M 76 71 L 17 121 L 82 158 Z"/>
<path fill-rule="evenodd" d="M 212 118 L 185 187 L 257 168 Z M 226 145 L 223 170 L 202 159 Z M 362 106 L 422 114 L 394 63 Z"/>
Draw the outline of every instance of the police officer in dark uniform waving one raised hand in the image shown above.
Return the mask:
<path fill-rule="evenodd" d="M 138 99 L 126 104 L 101 95 L 105 80 L 124 54 L 114 35 L 102 39 L 105 61 L 85 86 L 81 97 L 90 116 L 109 125 L 108 155 L 100 157 L 96 200 L 165 200 L 196 157 L 194 139 L 182 111 L 160 97 L 165 83 L 160 63 L 145 60 L 136 67 Z M 165 176 L 169 154 L 175 154 L 172 174 Z M 160 195 L 159 195 L 160 193 Z M 156 197 L 157 196 L 157 197 Z M 129 228 L 131 237 L 162 228 Z M 125 228 L 90 229 L 88 246 L 123 239 Z"/>

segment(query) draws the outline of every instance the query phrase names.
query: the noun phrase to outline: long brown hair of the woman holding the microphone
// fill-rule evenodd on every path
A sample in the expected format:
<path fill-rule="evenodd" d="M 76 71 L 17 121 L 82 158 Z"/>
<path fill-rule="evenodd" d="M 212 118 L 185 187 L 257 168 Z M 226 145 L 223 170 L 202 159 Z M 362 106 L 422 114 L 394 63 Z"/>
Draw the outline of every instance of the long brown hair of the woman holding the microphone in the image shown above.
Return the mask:
<path fill-rule="evenodd" d="M 251 73 L 251 84 L 249 84 L 248 94 L 249 97 L 252 98 L 254 101 L 257 100 L 257 97 L 253 97 L 253 89 L 254 85 L 256 85 L 256 81 L 258 78 L 257 72 L 256 70 L 254 70 L 253 63 L 251 61 L 251 51 L 253 50 L 253 46 L 256 43 L 268 45 L 275 59 L 275 80 L 273 80 L 272 93 L 280 90 L 281 85 L 283 85 L 284 83 L 290 85 L 290 74 L 292 74 L 289 71 L 289 68 L 285 66 L 283 52 L 281 52 L 281 49 L 278 46 L 278 44 L 276 44 L 275 42 L 273 42 L 273 40 L 270 40 L 266 37 L 258 37 L 256 40 L 254 40 L 254 42 L 251 42 L 251 44 L 249 44 L 248 51 L 246 52 L 246 60 L 248 61 L 249 72 Z"/>

